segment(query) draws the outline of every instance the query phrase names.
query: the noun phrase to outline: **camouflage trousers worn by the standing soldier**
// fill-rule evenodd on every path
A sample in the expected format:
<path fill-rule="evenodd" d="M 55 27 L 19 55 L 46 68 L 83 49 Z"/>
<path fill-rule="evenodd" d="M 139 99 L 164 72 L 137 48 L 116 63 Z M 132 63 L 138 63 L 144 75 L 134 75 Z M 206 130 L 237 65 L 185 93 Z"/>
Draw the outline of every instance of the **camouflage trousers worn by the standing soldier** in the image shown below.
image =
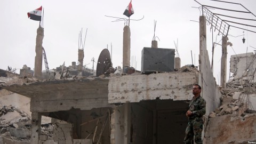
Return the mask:
<path fill-rule="evenodd" d="M 186 136 L 185 136 L 184 142 L 186 144 L 189 144 L 189 143 L 194 143 L 194 140 L 195 140 L 197 144 L 201 144 L 202 131 L 203 131 L 202 118 L 196 117 L 194 119 L 189 119 L 188 126 L 186 128 Z"/>

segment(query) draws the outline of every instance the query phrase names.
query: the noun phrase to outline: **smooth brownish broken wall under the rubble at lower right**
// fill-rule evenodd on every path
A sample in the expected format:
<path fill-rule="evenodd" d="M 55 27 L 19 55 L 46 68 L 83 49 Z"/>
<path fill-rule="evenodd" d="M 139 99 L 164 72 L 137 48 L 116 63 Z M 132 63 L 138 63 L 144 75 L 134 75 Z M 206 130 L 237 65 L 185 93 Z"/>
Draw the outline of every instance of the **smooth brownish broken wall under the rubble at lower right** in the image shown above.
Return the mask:
<path fill-rule="evenodd" d="M 247 143 L 256 141 L 256 115 L 236 117 L 222 115 L 210 118 L 204 143 Z"/>

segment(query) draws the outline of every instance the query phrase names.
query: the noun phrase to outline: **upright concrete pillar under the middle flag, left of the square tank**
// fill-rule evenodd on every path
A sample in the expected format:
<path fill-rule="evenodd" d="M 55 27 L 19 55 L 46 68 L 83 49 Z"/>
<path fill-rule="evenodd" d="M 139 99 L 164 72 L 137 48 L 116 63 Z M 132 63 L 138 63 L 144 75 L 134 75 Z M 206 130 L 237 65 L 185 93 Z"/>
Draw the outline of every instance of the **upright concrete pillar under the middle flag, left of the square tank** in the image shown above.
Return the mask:
<path fill-rule="evenodd" d="M 131 31 L 129 26 L 124 26 L 123 32 L 123 67 L 130 67 Z"/>

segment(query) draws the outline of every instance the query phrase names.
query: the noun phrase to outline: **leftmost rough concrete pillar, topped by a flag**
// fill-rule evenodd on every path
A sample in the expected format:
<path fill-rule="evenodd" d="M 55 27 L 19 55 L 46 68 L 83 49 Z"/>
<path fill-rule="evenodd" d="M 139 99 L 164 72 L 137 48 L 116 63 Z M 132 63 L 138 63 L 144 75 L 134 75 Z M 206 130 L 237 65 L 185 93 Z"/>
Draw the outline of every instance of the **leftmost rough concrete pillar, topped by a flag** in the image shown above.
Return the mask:
<path fill-rule="evenodd" d="M 36 35 L 35 77 L 42 78 L 44 28 L 39 26 Z"/>

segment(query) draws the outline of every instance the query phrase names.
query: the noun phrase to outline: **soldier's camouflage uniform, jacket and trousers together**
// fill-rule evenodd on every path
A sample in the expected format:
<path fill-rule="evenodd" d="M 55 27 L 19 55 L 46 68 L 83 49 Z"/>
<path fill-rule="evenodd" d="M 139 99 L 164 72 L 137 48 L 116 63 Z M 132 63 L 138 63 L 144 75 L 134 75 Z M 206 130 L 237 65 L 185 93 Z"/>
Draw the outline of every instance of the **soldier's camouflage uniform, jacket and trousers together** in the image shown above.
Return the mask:
<path fill-rule="evenodd" d="M 199 95 L 194 100 L 189 102 L 189 110 L 192 111 L 192 115 L 188 117 L 188 126 L 186 128 L 186 137 L 184 139 L 185 143 L 202 143 L 202 130 L 203 130 L 203 115 L 205 114 L 205 100 Z M 195 137 L 194 137 L 195 135 Z M 193 139 L 194 137 L 194 139 Z"/>

